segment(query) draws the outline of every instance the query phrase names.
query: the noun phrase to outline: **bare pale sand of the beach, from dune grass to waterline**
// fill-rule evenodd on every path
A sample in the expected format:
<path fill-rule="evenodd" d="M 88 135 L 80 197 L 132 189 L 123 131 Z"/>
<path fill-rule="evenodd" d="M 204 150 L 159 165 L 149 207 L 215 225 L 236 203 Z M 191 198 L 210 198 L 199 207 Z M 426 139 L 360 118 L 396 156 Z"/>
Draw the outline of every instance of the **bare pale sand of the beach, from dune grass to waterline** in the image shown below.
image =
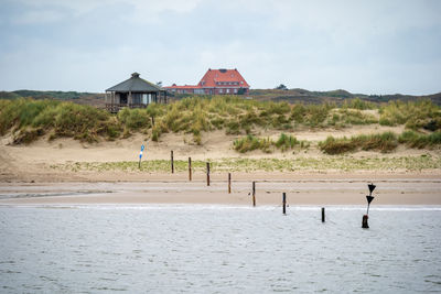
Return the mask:
<path fill-rule="evenodd" d="M 380 130 L 383 131 L 383 130 Z M 351 133 L 366 132 L 364 128 Z M 330 131 L 297 134 L 309 140 L 323 140 Z M 336 133 L 338 134 L 338 132 Z M 341 132 L 340 135 L 345 135 Z M 334 133 L 335 135 L 335 133 Z M 148 142 L 144 157 L 170 160 L 174 150 L 175 160 L 216 161 L 217 159 L 327 159 L 316 150 L 308 153 L 254 152 L 238 154 L 230 149 L 234 138 L 225 139 L 223 132 L 211 134 L 202 146 L 184 143 L 185 135 L 166 134 L 161 142 Z M 211 185 L 206 174 L 198 170 L 189 181 L 186 172 L 140 171 L 73 171 L 54 168 L 75 163 L 106 163 L 137 161 L 139 146 L 144 143 L 141 134 L 116 142 L 85 144 L 72 139 L 47 141 L 42 139 L 31 145 L 12 145 L 10 138 L 0 141 L 0 205 L 57 205 L 57 204 L 224 204 L 250 205 L 251 183 L 257 184 L 258 205 L 280 205 L 281 193 L 288 194 L 294 205 L 365 205 L 367 184 L 377 185 L 374 195 L 377 205 L 441 205 L 441 171 L 427 168 L 409 170 L 297 170 L 280 171 L 232 171 L 232 194 L 227 193 L 227 172 L 212 171 Z M 359 152 L 355 157 L 421 156 L 438 151 L 399 150 L 392 154 Z"/>

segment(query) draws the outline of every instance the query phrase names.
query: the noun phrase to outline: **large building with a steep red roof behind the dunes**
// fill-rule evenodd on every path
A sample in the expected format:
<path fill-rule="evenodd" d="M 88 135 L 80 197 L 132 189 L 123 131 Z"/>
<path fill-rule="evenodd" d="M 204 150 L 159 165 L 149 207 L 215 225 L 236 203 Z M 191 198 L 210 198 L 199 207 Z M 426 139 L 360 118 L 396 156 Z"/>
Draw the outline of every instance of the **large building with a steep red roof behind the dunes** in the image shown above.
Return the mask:
<path fill-rule="evenodd" d="M 164 88 L 176 94 L 240 95 L 249 91 L 248 83 L 236 68 L 208 68 L 197 85 L 176 86 L 173 84 Z"/>

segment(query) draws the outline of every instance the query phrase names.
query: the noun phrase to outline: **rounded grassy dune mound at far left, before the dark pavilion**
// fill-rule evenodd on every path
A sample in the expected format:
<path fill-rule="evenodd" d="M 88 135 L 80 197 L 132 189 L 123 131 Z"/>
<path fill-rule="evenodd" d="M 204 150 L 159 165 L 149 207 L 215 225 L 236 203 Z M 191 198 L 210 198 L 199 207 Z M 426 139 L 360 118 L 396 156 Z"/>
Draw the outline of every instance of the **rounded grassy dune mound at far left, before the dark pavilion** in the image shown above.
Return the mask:
<path fill-rule="evenodd" d="M 71 137 L 96 142 L 119 137 L 118 120 L 89 106 L 54 100 L 18 99 L 0 104 L 0 134 L 12 130 L 15 143 L 30 143 L 50 132 L 51 139 Z"/>

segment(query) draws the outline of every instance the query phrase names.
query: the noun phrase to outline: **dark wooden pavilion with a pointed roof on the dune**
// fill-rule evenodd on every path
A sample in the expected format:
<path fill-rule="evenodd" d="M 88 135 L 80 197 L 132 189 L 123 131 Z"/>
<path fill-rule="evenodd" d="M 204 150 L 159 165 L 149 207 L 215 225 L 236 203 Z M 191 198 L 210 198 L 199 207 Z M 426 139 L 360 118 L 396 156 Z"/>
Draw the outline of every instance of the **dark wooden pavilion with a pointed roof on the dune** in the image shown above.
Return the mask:
<path fill-rule="evenodd" d="M 139 77 L 138 73 L 106 90 L 106 109 L 118 112 L 123 107 L 146 108 L 149 104 L 166 104 L 166 90 Z"/>

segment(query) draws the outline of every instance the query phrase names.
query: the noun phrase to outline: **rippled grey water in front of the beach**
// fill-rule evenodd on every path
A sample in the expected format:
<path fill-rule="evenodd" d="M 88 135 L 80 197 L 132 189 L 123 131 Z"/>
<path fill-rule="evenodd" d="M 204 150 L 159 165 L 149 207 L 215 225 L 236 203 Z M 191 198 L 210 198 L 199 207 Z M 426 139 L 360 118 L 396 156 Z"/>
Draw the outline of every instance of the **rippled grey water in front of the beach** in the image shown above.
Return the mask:
<path fill-rule="evenodd" d="M 441 209 L 0 207 L 2 293 L 441 292 Z"/>

